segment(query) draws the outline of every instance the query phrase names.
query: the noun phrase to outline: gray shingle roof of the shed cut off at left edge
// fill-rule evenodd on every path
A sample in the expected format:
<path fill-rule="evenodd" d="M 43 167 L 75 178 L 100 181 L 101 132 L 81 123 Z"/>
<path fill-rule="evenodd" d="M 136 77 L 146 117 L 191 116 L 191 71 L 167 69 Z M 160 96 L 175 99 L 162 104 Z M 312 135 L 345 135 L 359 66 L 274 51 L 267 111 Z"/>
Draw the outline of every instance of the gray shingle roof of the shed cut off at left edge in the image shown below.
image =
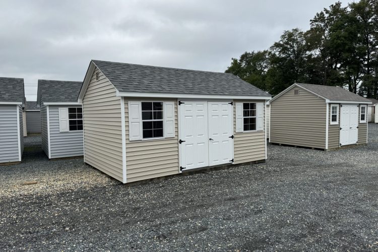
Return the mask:
<path fill-rule="evenodd" d="M 22 102 L 24 104 L 24 79 L 0 77 L 0 102 Z"/>

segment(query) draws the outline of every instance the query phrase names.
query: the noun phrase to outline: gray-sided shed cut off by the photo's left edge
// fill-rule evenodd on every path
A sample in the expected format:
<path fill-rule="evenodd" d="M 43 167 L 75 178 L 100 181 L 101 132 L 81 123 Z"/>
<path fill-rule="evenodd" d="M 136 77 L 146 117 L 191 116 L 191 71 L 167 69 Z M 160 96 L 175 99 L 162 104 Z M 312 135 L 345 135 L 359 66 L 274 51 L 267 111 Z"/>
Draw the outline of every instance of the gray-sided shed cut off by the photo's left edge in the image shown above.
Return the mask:
<path fill-rule="evenodd" d="M 21 162 L 24 79 L 0 77 L 0 165 Z"/>

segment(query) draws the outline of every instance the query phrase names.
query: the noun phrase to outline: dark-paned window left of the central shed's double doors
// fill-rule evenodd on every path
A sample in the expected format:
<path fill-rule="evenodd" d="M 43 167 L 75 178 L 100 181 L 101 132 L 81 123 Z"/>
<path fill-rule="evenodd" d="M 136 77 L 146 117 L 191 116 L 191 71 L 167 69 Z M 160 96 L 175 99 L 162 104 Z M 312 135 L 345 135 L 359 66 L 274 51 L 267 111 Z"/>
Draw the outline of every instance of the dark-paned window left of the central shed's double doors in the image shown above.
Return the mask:
<path fill-rule="evenodd" d="M 143 139 L 163 137 L 163 102 L 142 101 Z"/>

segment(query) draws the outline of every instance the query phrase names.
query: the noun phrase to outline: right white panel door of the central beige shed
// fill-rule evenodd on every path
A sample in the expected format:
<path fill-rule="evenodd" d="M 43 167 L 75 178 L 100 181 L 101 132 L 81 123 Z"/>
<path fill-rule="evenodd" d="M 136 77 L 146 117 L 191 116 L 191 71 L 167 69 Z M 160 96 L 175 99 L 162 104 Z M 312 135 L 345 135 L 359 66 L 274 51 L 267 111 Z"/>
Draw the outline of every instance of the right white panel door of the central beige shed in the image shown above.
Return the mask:
<path fill-rule="evenodd" d="M 232 105 L 229 102 L 208 102 L 209 165 L 231 163 Z"/>

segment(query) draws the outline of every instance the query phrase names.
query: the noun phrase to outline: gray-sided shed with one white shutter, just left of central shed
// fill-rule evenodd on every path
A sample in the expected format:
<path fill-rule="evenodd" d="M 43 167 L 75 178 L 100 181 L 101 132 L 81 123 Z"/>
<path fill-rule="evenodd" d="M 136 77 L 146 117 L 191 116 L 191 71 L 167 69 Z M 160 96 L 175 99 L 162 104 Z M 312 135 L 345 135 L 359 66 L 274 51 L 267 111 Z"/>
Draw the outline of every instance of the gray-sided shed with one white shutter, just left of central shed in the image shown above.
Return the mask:
<path fill-rule="evenodd" d="M 42 149 L 49 159 L 83 156 L 82 82 L 38 80 Z"/>

